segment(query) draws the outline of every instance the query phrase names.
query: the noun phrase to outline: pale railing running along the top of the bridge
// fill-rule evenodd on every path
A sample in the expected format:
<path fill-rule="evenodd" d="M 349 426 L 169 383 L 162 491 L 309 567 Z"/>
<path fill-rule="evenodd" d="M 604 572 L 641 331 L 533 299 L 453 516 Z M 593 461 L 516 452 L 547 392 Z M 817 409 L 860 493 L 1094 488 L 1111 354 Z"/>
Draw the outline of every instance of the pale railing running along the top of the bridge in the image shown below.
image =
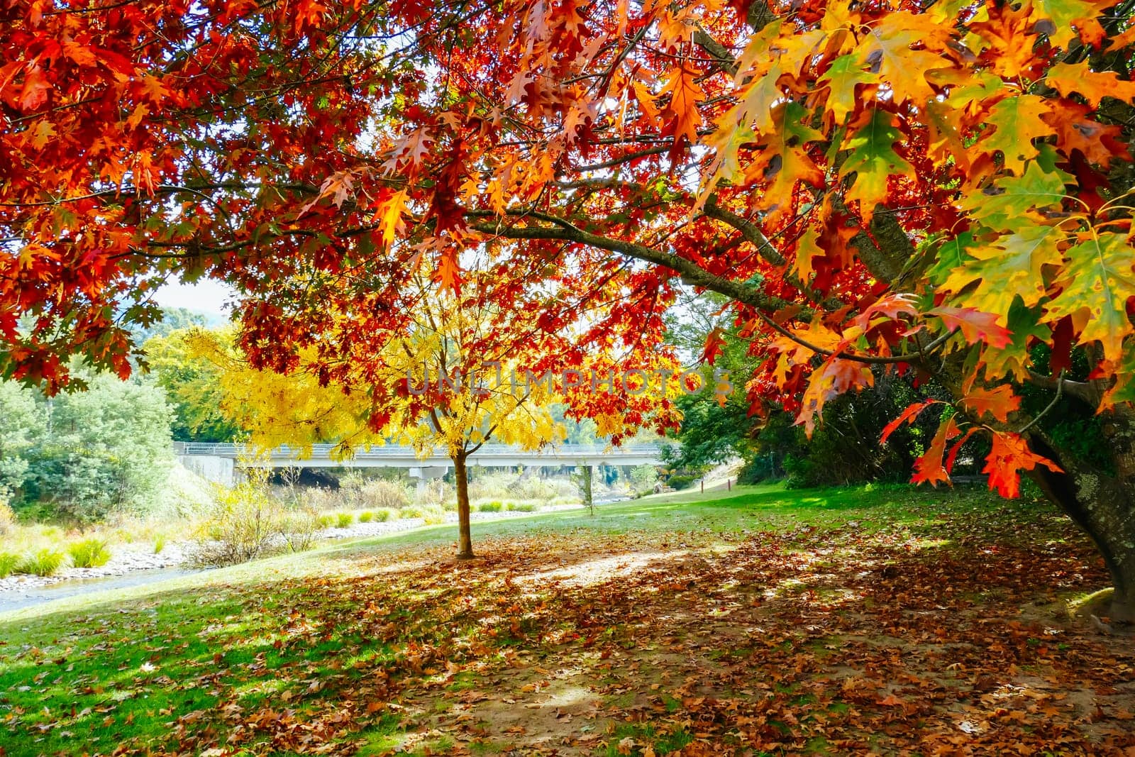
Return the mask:
<path fill-rule="evenodd" d="M 280 446 L 269 453 L 272 459 L 287 457 L 296 461 L 301 460 L 329 460 L 331 459 L 331 451 L 338 448 L 338 445 L 334 444 L 317 444 L 312 445 L 311 454 L 301 457 L 302 449 Z M 656 444 L 630 444 L 622 447 L 599 447 L 596 445 L 585 445 L 585 444 L 561 444 L 555 446 L 547 446 L 540 449 L 521 449 L 507 444 L 486 444 L 481 446 L 471 456 L 476 460 L 479 457 L 515 457 L 521 456 L 532 456 L 532 457 L 575 457 L 575 456 L 609 456 L 609 457 L 640 457 L 640 456 L 656 456 L 661 451 L 659 445 Z M 233 457 L 233 459 L 258 459 L 262 451 L 258 451 L 255 447 L 241 444 L 225 444 L 225 443 L 211 443 L 211 441 L 175 441 L 174 453 L 178 455 L 209 455 L 213 457 Z M 345 464 L 350 464 L 352 460 L 363 461 L 363 460 L 382 460 L 390 457 L 418 457 L 420 460 L 436 460 L 436 459 L 448 459 L 444 447 L 437 447 L 434 449 L 432 454 L 422 457 L 418 454 L 414 447 L 404 445 L 380 445 L 372 446 L 369 449 L 359 448 L 354 451 L 354 455 L 347 460 L 344 460 Z"/>

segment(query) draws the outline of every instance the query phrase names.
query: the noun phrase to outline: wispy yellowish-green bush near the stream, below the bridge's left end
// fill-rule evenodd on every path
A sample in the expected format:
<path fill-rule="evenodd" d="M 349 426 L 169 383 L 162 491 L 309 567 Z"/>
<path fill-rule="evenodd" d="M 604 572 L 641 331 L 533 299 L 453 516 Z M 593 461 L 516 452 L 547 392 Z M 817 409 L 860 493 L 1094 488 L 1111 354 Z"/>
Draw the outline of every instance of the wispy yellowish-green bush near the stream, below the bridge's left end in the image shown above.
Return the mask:
<path fill-rule="evenodd" d="M 268 496 L 264 477 L 249 473 L 252 478 L 232 489 L 218 487 L 213 512 L 196 533 L 197 549 L 192 560 L 199 565 L 236 565 L 254 560 L 267 553 L 284 530 L 284 508 Z"/>

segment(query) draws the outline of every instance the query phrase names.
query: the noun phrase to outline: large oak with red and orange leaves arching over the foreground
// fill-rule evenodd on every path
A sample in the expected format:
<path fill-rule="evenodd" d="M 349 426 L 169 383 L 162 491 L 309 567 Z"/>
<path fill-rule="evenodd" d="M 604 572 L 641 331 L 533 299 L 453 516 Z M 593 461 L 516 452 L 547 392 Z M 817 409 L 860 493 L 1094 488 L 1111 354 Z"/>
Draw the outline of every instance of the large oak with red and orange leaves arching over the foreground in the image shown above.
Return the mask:
<path fill-rule="evenodd" d="M 460 289 L 463 251 L 549 297 L 549 331 L 602 301 L 587 335 L 649 339 L 678 288 L 712 291 L 763 360 L 753 412 L 810 428 L 873 365 L 934 377 L 957 412 L 915 480 L 989 438 L 991 486 L 1036 479 L 1133 615 L 1132 11 L 11 1 L 0 362 L 56 387 L 72 353 L 125 373 L 124 321 L 170 271 L 245 293 L 255 364 L 313 348 L 327 380 L 369 328 L 321 338 L 328 297 L 395 334 L 406 283 Z M 1025 382 L 1098 413 L 1110 464 L 1046 434 Z"/>

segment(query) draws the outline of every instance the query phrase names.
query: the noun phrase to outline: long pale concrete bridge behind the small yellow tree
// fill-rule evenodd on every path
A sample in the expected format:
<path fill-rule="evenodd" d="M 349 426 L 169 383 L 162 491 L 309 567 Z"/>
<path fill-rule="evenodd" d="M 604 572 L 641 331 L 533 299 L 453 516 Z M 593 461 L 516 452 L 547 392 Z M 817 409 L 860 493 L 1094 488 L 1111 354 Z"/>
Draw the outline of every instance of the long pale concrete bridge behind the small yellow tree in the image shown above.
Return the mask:
<path fill-rule="evenodd" d="M 301 457 L 300 449 L 277 447 L 270 453 L 258 455 L 252 447 L 237 444 L 211 444 L 203 441 L 175 441 L 174 454 L 183 465 L 199 476 L 229 485 L 236 471 L 246 466 L 269 468 L 405 468 L 411 478 L 418 479 L 419 487 L 427 479 L 440 478 L 453 462 L 444 448 L 421 456 L 410 446 L 385 445 L 368 451 L 356 449 L 350 460 L 331 456 L 333 444 L 317 444 L 311 454 Z M 470 465 L 485 468 L 560 468 L 573 465 L 658 465 L 662 463 L 661 447 L 656 444 L 631 444 L 623 447 L 598 447 L 581 444 L 561 444 L 541 449 L 521 449 L 505 444 L 481 445 L 466 459 Z"/>

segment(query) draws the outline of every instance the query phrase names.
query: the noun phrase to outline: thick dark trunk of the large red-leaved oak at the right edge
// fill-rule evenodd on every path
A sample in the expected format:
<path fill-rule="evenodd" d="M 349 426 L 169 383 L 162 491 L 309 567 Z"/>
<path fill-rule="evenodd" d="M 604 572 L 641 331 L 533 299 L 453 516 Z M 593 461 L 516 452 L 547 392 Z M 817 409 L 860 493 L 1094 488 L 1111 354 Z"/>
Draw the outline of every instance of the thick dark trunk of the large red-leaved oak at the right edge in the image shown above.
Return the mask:
<path fill-rule="evenodd" d="M 1037 466 L 1033 480 L 1095 542 L 1115 595 L 1111 619 L 1135 622 L 1135 419 L 1107 413 L 1115 474 L 1073 459 L 1043 432 L 1029 435 L 1032 448 L 1057 461 L 1062 473 Z"/>

